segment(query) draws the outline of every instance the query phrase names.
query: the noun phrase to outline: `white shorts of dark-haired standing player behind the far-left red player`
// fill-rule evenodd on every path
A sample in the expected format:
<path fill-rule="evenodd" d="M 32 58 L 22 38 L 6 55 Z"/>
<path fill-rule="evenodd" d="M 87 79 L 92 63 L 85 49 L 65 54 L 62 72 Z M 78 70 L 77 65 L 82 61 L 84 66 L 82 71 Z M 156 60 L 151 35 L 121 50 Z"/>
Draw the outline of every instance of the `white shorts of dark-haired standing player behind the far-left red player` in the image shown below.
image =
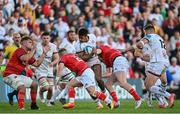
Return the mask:
<path fill-rule="evenodd" d="M 53 68 L 49 68 L 48 70 L 41 70 L 41 69 L 36 69 L 35 70 L 35 76 L 39 80 L 42 77 L 45 78 L 53 78 Z"/>

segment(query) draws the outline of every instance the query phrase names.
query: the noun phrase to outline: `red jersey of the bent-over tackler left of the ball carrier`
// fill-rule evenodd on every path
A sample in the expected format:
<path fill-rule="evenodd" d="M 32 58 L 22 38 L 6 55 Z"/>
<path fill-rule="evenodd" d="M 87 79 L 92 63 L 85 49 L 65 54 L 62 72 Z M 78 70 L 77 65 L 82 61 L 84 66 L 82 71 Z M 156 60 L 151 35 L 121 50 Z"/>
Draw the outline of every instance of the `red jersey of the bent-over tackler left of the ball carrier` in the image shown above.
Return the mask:
<path fill-rule="evenodd" d="M 81 76 L 82 73 L 88 68 L 87 63 L 74 54 L 63 55 L 61 57 L 61 62 L 78 76 Z"/>

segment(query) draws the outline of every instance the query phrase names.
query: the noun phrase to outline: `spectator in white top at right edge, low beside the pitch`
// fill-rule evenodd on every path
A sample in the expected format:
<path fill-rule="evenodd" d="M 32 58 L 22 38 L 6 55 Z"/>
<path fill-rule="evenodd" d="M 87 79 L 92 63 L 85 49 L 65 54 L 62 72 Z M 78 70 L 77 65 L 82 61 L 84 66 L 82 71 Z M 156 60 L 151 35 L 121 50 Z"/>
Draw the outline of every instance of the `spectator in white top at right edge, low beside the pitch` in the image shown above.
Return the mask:
<path fill-rule="evenodd" d="M 169 67 L 169 71 L 171 72 L 174 84 L 179 85 L 180 84 L 180 66 L 177 65 L 177 58 L 173 57 L 171 59 L 171 66 Z"/>

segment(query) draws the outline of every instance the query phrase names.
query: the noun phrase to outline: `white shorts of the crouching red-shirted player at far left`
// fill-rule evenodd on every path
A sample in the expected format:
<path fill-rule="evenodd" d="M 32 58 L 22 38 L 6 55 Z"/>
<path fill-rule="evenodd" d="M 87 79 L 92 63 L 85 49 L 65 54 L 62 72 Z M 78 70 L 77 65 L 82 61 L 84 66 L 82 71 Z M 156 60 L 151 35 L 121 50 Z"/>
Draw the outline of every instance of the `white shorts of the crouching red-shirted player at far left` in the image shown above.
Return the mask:
<path fill-rule="evenodd" d="M 33 80 L 30 77 L 24 75 L 11 74 L 7 77 L 3 77 L 3 81 L 17 90 L 19 86 L 24 85 L 26 88 L 31 87 Z"/>

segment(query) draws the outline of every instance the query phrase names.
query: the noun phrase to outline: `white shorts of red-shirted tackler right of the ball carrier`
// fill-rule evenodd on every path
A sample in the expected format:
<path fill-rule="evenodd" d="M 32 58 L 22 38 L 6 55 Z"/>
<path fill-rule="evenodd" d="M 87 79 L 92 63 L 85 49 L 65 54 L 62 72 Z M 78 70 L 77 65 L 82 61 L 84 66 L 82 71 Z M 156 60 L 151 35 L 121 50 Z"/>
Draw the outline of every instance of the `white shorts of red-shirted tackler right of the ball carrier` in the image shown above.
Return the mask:
<path fill-rule="evenodd" d="M 113 61 L 113 72 L 124 71 L 128 72 L 129 63 L 127 59 L 123 56 L 116 57 Z"/>

